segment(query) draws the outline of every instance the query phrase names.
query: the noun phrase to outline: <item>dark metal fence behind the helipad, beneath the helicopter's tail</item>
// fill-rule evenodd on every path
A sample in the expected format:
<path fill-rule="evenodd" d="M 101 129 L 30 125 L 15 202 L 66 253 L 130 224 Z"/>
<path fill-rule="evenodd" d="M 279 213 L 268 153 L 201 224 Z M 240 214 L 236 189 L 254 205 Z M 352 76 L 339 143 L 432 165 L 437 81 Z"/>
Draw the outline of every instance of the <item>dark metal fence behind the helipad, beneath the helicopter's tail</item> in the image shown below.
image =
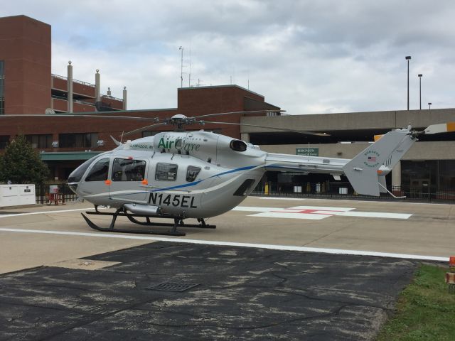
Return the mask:
<path fill-rule="evenodd" d="M 250 195 L 270 197 L 309 197 L 322 199 L 357 199 L 357 200 L 403 200 L 409 202 L 446 202 L 455 203 L 455 188 L 431 191 L 429 188 L 409 188 L 405 186 L 388 186 L 396 199 L 389 193 L 380 193 L 380 197 L 355 193 L 350 183 L 259 183 Z"/>

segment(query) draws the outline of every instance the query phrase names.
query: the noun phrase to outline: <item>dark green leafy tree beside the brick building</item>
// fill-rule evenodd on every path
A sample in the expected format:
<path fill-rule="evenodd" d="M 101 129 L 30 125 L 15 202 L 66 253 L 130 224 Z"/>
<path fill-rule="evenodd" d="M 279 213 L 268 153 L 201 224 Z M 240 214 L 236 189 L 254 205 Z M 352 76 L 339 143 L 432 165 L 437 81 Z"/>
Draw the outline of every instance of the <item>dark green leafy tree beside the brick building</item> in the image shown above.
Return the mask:
<path fill-rule="evenodd" d="M 16 136 L 0 158 L 0 180 L 5 182 L 39 184 L 48 174 L 48 166 L 23 135 Z"/>

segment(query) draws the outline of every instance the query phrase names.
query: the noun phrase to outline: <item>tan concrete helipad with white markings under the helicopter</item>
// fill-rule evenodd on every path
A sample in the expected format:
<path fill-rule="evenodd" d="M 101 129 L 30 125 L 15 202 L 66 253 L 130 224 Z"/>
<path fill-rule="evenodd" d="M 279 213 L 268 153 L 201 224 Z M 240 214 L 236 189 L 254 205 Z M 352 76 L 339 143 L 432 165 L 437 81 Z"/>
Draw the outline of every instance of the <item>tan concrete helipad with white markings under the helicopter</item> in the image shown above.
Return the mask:
<path fill-rule="evenodd" d="M 0 210 L 0 273 L 176 239 L 93 231 L 80 216 L 85 208 Z M 109 225 L 110 217 L 90 218 Z M 177 240 L 437 261 L 455 254 L 455 205 L 248 197 L 208 222 L 217 229 L 185 229 Z M 117 227 L 137 225 L 119 218 Z"/>

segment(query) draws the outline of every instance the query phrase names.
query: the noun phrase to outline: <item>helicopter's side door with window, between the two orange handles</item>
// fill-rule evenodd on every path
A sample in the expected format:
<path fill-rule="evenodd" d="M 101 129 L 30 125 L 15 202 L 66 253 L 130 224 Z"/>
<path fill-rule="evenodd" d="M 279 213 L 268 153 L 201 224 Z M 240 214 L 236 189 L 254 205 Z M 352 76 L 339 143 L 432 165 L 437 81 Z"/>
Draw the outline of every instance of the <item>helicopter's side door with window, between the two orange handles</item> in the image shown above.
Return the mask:
<path fill-rule="evenodd" d="M 114 158 L 112 161 L 109 195 L 116 203 L 145 202 L 144 179 L 147 163 L 133 158 Z"/>

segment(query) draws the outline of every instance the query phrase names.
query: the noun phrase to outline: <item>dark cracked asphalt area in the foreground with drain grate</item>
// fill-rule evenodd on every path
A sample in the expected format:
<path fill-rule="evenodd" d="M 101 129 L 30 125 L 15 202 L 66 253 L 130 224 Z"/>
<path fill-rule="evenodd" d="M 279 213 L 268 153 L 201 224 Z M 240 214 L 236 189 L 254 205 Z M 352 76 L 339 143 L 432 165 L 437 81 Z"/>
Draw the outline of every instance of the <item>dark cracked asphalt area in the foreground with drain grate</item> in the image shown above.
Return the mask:
<path fill-rule="evenodd" d="M 154 242 L 0 275 L 0 340 L 374 340 L 416 266 Z"/>

